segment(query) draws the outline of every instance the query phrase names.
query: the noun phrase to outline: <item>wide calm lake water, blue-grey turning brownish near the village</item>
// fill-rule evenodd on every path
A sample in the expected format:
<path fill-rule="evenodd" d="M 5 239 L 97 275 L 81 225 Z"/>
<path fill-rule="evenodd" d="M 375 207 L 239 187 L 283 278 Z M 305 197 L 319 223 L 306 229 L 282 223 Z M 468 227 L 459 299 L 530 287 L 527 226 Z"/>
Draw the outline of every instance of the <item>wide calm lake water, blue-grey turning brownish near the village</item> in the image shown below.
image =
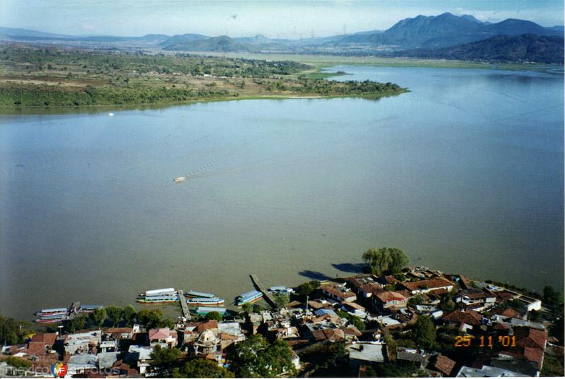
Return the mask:
<path fill-rule="evenodd" d="M 126 305 L 160 287 L 231 302 L 250 273 L 347 275 L 381 246 L 563 286 L 562 76 L 337 70 L 411 92 L 1 116 L 0 312 Z"/>

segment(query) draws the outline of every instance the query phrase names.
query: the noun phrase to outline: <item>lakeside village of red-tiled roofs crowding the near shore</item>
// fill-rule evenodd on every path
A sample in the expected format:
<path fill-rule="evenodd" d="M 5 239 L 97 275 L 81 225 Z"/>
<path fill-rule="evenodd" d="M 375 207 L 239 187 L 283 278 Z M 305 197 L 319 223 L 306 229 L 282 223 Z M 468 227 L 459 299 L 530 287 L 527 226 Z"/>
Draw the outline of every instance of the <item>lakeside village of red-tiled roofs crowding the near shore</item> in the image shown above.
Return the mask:
<path fill-rule="evenodd" d="M 72 332 L 59 325 L 2 346 L 0 375 L 51 376 L 57 362 L 73 378 L 496 377 L 552 375 L 549 363 L 563 368 L 562 303 L 510 286 L 413 266 L 278 287 L 284 294 L 276 296 L 255 284 L 270 294 L 270 308 L 183 312 L 165 323 L 141 311 Z M 260 371 L 259 342 L 283 349 L 280 365 Z M 182 371 L 196 361 L 219 371 Z"/>

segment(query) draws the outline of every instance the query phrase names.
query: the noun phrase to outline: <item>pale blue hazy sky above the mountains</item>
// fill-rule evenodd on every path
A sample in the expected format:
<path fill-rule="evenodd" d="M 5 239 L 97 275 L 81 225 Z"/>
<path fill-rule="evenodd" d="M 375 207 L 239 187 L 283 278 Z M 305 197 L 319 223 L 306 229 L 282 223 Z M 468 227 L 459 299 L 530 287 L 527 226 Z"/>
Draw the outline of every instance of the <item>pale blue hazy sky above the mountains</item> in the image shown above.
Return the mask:
<path fill-rule="evenodd" d="M 0 0 L 0 25 L 70 35 L 321 37 L 384 30 L 419 14 L 472 14 L 496 22 L 563 25 L 562 0 L 182 1 Z"/>

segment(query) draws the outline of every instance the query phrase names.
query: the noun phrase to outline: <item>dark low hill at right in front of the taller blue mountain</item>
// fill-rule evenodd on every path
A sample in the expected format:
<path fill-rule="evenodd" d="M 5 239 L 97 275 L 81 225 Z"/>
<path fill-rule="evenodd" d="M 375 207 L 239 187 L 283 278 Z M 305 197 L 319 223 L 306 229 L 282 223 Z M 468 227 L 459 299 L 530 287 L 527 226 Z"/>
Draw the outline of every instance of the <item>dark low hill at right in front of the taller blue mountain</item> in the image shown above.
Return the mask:
<path fill-rule="evenodd" d="M 564 39 L 534 34 L 496 35 L 458 46 L 414 49 L 400 54 L 434 59 L 563 63 Z"/>

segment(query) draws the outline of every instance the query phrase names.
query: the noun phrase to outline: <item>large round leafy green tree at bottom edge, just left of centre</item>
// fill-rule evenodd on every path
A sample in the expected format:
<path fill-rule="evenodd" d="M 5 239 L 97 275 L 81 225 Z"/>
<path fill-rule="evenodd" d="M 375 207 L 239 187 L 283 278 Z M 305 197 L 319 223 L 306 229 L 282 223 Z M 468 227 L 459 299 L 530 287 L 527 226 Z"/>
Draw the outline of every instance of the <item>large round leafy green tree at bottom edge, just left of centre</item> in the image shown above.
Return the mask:
<path fill-rule="evenodd" d="M 277 339 L 269 344 L 259 334 L 237 344 L 232 361 L 236 376 L 242 378 L 274 378 L 283 373 L 296 373 L 287 342 Z"/>

